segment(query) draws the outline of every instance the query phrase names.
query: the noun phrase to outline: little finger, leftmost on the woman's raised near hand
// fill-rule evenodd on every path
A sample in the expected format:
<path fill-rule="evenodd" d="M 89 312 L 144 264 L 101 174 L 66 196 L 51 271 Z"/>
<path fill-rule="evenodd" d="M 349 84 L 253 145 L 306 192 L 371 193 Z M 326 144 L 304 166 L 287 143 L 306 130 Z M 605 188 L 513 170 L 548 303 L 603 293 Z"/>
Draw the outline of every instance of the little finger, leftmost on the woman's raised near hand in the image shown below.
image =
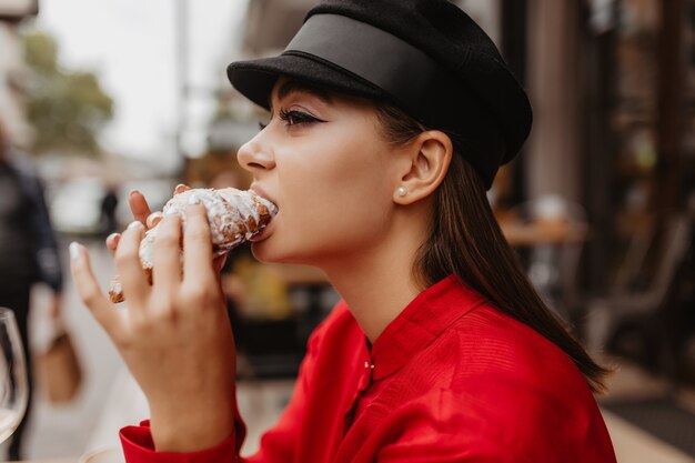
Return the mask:
<path fill-rule="evenodd" d="M 87 249 L 77 242 L 70 244 L 70 272 L 84 305 L 97 322 L 113 336 L 121 329 L 122 315 L 99 288 Z"/>

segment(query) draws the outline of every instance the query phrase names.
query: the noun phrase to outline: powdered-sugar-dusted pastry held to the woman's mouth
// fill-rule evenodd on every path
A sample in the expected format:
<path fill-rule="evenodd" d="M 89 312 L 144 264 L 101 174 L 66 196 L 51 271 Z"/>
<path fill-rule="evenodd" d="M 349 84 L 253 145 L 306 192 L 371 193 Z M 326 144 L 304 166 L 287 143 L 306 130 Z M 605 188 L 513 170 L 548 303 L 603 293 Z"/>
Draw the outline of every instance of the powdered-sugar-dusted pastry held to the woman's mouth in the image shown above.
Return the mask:
<path fill-rule="evenodd" d="M 221 190 L 190 189 L 179 185 L 173 198 L 164 204 L 162 213 L 164 215 L 180 213 L 185 221 L 185 208 L 195 203 L 202 203 L 208 211 L 212 250 L 215 256 L 224 254 L 259 234 L 278 212 L 275 204 L 250 190 L 242 191 L 233 188 Z M 148 230 L 140 242 L 140 263 L 150 282 L 152 280 L 152 255 L 157 230 L 157 225 Z M 111 281 L 109 295 L 112 302 L 124 300 L 118 276 Z"/>

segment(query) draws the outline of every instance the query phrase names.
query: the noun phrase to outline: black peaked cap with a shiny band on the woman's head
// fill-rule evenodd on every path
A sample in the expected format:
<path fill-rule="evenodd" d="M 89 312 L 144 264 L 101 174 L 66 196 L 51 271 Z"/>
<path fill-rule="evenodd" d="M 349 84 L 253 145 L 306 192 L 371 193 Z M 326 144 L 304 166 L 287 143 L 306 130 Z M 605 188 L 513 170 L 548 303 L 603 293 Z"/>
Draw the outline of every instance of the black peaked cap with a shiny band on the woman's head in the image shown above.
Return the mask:
<path fill-rule="evenodd" d="M 226 72 L 264 108 L 279 76 L 395 104 L 463 144 L 487 188 L 531 131 L 526 92 L 487 34 L 446 0 L 322 0 L 282 54 Z"/>

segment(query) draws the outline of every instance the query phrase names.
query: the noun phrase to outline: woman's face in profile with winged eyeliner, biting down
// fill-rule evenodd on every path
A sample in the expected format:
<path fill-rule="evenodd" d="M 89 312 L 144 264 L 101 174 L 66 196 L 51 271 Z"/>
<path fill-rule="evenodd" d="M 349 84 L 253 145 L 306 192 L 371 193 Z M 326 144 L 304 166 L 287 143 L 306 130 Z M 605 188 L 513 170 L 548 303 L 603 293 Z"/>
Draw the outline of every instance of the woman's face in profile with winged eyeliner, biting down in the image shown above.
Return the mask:
<path fill-rule="evenodd" d="M 279 80 L 270 122 L 238 153 L 251 188 L 280 209 L 256 258 L 321 265 L 379 246 L 397 187 L 394 149 L 367 101 Z"/>

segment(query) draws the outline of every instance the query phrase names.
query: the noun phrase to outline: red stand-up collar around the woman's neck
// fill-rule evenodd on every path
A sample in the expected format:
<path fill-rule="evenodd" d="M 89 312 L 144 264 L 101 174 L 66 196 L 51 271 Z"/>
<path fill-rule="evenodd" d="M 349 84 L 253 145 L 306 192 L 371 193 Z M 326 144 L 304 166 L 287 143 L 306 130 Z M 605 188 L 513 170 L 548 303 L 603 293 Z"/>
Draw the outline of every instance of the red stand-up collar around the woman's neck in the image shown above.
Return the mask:
<path fill-rule="evenodd" d="M 372 380 L 395 373 L 453 322 L 483 302 L 482 295 L 461 284 L 455 275 L 420 293 L 374 342 Z"/>

